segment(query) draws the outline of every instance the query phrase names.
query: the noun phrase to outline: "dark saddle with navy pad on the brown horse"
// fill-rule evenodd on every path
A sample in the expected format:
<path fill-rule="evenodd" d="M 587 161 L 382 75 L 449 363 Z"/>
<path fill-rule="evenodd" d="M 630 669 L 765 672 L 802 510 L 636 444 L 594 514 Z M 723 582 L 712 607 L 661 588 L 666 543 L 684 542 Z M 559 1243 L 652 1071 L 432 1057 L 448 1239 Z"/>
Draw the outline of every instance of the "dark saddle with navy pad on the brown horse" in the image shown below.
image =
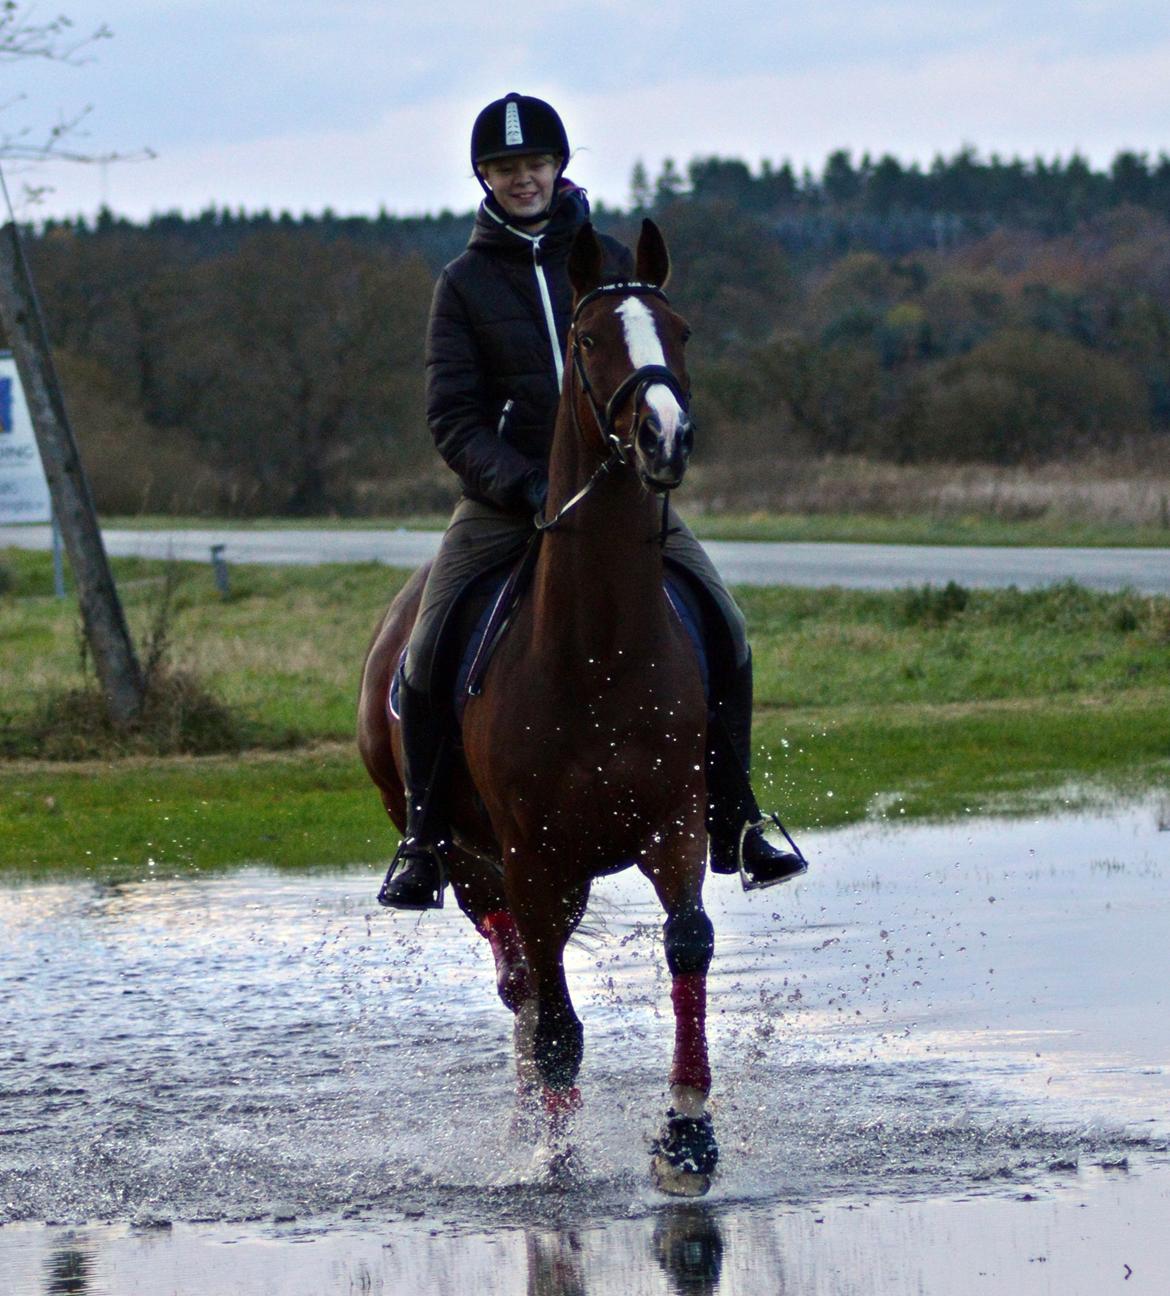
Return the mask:
<path fill-rule="evenodd" d="M 487 674 L 491 658 L 531 584 L 539 550 L 538 534 L 533 537 L 518 561 L 472 579 L 452 601 L 451 610 L 443 621 L 435 648 L 431 701 L 453 717 L 456 730 L 463 723 L 468 699 L 478 696 L 482 691 L 483 677 Z M 718 610 L 689 573 L 669 560 L 663 590 L 691 640 L 702 678 L 704 696 L 710 700 L 709 645 L 715 635 L 714 625 L 718 622 L 713 618 L 718 618 Z M 395 719 L 399 717 L 398 691 L 404 662 L 406 647 L 398 660 L 386 700 L 387 709 Z"/>

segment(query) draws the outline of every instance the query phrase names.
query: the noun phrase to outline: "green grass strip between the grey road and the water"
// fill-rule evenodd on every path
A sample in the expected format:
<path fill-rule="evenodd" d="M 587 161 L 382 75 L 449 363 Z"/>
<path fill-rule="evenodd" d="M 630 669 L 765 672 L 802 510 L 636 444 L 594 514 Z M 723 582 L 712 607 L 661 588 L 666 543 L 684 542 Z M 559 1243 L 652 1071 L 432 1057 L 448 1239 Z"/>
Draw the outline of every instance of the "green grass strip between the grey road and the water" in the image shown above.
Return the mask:
<path fill-rule="evenodd" d="M 181 578 L 175 666 L 238 717 L 238 750 L 93 748 L 49 701 L 82 680 L 75 605 L 44 555 L 0 552 L 0 867 L 141 876 L 385 859 L 352 744 L 372 626 L 406 573 L 237 568 Z M 141 639 L 166 566 L 115 560 Z M 757 662 L 757 783 L 790 827 L 1020 811 L 1170 775 L 1170 600 L 1075 586 L 890 594 L 741 588 Z M 45 759 L 56 756 L 56 759 Z M 61 759 L 61 757 L 71 759 Z"/>

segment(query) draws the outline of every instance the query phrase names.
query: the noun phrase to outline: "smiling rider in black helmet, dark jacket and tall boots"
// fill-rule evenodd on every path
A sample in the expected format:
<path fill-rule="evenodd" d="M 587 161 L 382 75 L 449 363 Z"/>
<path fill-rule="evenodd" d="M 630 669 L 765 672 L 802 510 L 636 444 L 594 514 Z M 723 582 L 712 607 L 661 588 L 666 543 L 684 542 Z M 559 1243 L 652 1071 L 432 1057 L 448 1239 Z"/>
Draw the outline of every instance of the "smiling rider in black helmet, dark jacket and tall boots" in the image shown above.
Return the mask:
<path fill-rule="evenodd" d="M 569 248 L 590 211 L 584 191 L 565 176 L 568 161 L 565 127 L 543 100 L 510 93 L 476 118 L 472 166 L 485 198 L 466 251 L 439 275 L 426 337 L 426 417 L 463 495 L 422 591 L 399 687 L 407 828 L 378 894 L 398 908 L 431 908 L 442 898 L 450 709 L 435 649 L 443 621 L 474 577 L 523 552 L 548 491 L 573 298 Z M 628 250 L 605 236 L 601 244 L 605 276 L 630 279 Z M 744 617 L 676 517 L 665 556 L 697 584 L 724 643 L 709 654 L 710 867 L 731 874 L 742 866 L 749 885 L 784 881 L 803 872 L 805 861 L 766 840 L 748 778 Z"/>

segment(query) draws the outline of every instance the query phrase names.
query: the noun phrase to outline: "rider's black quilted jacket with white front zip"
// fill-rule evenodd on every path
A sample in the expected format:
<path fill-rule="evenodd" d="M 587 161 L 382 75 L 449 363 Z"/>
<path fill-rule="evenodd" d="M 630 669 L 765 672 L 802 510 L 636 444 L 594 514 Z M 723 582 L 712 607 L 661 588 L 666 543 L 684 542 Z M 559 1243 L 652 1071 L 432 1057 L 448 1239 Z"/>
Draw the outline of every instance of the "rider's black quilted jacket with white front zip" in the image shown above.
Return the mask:
<path fill-rule="evenodd" d="M 573 295 L 569 248 L 587 218 L 584 193 L 569 181 L 539 235 L 507 224 L 488 198 L 468 250 L 435 284 L 426 420 L 464 494 L 509 512 L 535 512 L 544 500 Z M 630 277 L 628 250 L 601 242 L 606 277 Z"/>

